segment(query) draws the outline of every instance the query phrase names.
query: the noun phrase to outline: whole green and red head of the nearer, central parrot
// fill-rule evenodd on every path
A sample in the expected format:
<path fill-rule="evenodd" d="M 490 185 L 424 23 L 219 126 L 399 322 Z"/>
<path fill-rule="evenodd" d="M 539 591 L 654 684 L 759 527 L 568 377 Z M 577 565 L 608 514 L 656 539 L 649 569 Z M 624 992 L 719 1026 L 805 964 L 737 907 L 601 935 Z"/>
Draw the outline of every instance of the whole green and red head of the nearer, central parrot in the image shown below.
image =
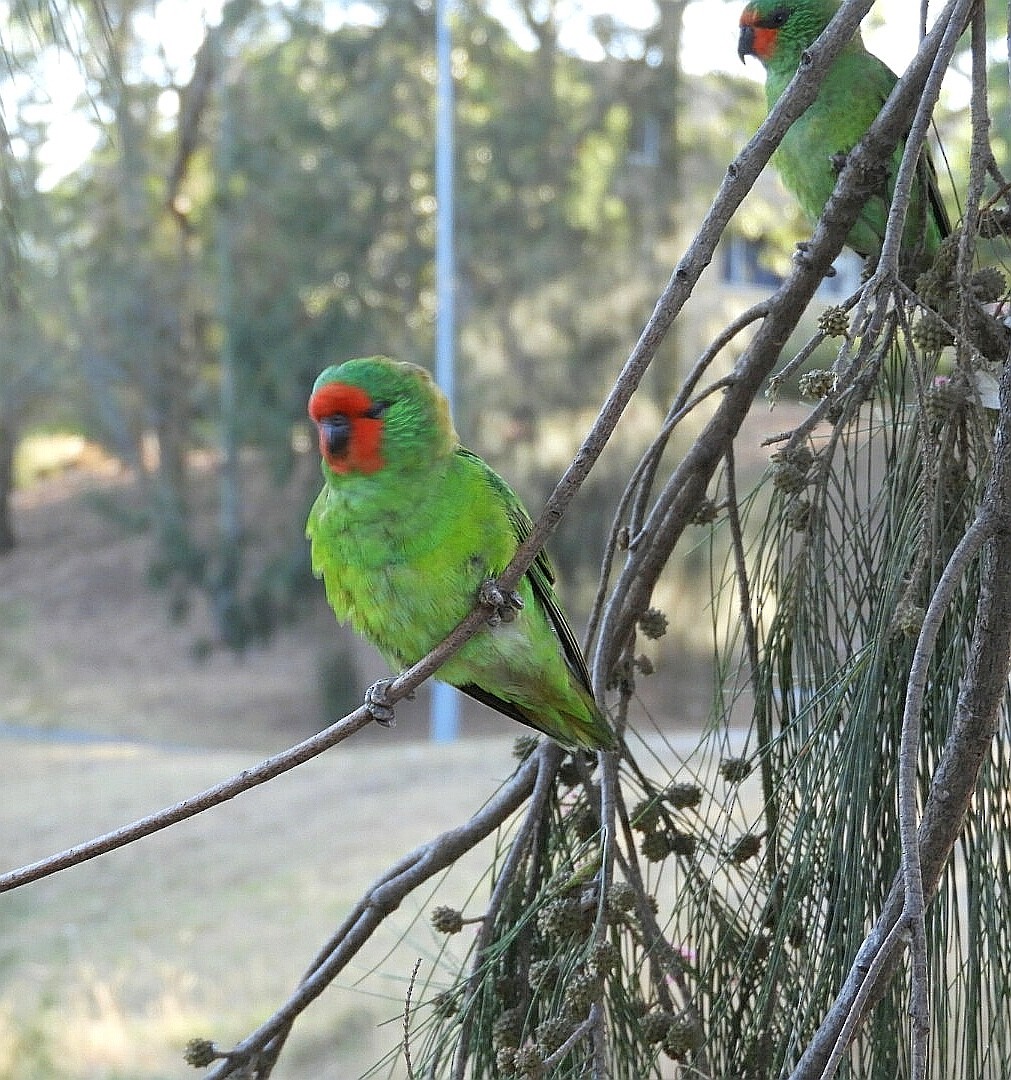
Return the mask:
<path fill-rule="evenodd" d="M 337 476 L 430 465 L 459 445 L 449 404 L 429 373 L 388 356 L 327 367 L 312 388 L 309 416 L 324 473 Z"/>

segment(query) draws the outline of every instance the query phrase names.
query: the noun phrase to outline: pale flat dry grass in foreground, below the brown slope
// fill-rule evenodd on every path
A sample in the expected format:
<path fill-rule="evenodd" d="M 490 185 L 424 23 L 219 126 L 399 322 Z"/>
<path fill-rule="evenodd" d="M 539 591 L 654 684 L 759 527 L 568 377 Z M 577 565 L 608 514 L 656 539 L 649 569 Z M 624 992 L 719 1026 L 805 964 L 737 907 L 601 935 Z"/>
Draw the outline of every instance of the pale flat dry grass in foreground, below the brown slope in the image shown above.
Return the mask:
<path fill-rule="evenodd" d="M 0 1077 L 196 1076 L 189 1038 L 238 1040 L 284 1000 L 363 887 L 474 809 L 511 741 L 339 747 L 120 852 L 0 897 Z M 5 741 L 4 862 L 19 865 L 251 764 L 248 754 Z M 463 901 L 487 856 L 455 872 Z M 408 902 L 297 1028 L 280 1078 L 358 1077 L 399 1039 L 441 941 Z M 441 896 L 443 894 L 441 893 Z M 368 974 L 368 968 L 380 970 Z M 430 970 L 430 969 L 428 969 Z M 358 985 L 359 980 L 363 980 Z M 390 1021 L 389 1026 L 382 1026 Z"/>

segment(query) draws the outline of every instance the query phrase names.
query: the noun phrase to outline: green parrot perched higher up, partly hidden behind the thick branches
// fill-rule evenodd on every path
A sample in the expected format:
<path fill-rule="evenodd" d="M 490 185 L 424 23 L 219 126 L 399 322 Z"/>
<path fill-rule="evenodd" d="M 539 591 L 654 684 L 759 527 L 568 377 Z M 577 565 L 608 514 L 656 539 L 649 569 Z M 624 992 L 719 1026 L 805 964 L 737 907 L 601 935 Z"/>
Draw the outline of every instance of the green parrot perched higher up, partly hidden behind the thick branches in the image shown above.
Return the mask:
<path fill-rule="evenodd" d="M 752 0 L 741 13 L 738 55 L 757 56 L 766 69 L 766 100 L 771 109 L 796 75 L 804 51 L 825 29 L 838 0 Z M 817 221 L 835 188 L 846 154 L 863 138 L 895 85 L 894 72 L 853 36 L 825 76 L 818 97 L 793 124 L 773 162 L 801 210 Z M 872 195 L 847 237 L 865 258 L 877 258 L 903 145 L 889 166 L 887 188 Z M 938 190 L 938 175 L 927 148 L 919 160 L 906 213 L 900 261 L 904 274 L 927 269 L 951 232 Z"/>

